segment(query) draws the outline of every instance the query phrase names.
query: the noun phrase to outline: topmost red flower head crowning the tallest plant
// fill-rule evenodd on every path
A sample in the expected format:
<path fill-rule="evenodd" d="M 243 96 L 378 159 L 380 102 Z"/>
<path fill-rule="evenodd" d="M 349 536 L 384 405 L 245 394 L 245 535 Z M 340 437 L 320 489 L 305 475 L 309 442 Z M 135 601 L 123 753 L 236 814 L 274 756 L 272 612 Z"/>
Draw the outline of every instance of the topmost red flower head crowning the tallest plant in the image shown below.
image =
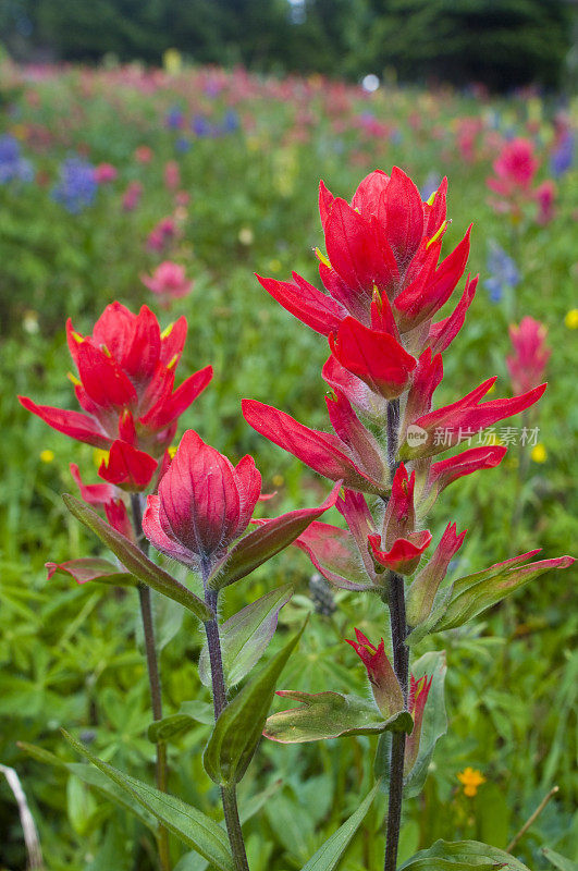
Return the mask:
<path fill-rule="evenodd" d="M 327 257 L 319 255 L 319 274 L 329 295 L 296 273 L 293 282 L 259 281 L 288 311 L 325 335 L 336 333 L 347 315 L 376 329 L 371 314 L 376 300 L 388 307 L 388 300 L 393 304 L 392 326 L 379 329 L 394 336 L 410 331 L 447 302 L 466 267 L 469 230 L 438 265 L 447 226 L 446 189 L 444 179 L 435 195 L 422 203 L 414 182 L 394 167 L 391 176 L 380 170 L 370 173 L 348 205 L 321 182 L 319 210 Z M 454 315 L 436 324 L 432 336 L 436 351 L 447 347 L 460 329 L 474 291 L 475 282 L 468 280 Z"/>

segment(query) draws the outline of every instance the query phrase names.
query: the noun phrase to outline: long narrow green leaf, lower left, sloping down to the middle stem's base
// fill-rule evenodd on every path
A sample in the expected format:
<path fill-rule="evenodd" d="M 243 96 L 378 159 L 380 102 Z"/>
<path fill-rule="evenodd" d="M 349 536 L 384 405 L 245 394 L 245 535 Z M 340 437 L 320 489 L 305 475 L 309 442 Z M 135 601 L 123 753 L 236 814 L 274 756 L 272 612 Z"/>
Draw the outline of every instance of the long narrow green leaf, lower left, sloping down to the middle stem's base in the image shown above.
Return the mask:
<path fill-rule="evenodd" d="M 233 871 L 233 859 L 229 849 L 226 833 L 221 826 L 201 811 L 186 805 L 180 798 L 161 793 L 136 777 L 131 777 L 94 756 L 67 732 L 64 737 L 78 753 L 107 775 L 116 786 L 124 789 L 139 805 L 152 813 L 170 832 L 188 847 L 212 862 L 220 871 Z"/>

